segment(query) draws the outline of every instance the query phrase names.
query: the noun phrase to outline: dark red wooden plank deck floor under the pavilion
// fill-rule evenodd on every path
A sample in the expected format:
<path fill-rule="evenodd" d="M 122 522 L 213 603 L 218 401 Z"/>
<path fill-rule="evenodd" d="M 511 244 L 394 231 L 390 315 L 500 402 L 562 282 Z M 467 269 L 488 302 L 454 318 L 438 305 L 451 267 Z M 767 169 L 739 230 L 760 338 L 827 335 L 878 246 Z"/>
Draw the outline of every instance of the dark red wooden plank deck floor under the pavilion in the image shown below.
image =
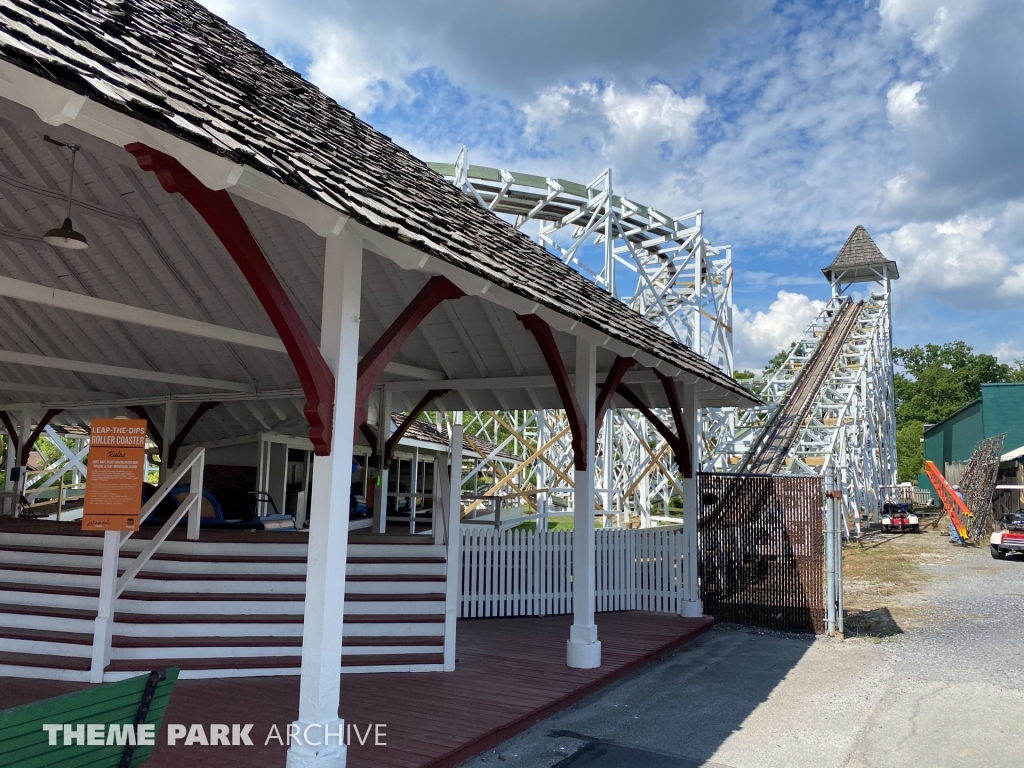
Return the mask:
<path fill-rule="evenodd" d="M 627 611 L 598 614 L 604 665 L 565 666 L 570 616 L 459 622 L 454 673 L 346 675 L 341 715 L 360 731 L 386 724 L 386 746 L 353 744 L 352 768 L 455 766 L 696 637 L 710 618 Z M 0 709 L 83 684 L 0 678 Z M 285 749 L 264 745 L 298 711 L 298 678 L 183 680 L 157 739 L 151 768 L 281 768 Z M 168 746 L 167 723 L 253 723 L 253 746 Z M 371 739 L 372 741 L 372 739 Z"/>

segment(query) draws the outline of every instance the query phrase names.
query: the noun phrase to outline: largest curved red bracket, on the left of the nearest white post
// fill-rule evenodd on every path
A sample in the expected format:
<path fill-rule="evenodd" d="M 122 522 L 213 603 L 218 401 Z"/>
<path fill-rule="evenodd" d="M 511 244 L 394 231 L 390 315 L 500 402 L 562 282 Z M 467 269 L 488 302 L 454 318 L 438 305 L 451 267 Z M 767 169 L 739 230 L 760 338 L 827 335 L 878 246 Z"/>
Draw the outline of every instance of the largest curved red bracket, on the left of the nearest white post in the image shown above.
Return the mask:
<path fill-rule="evenodd" d="M 334 374 L 239 209 L 225 190 L 205 186 L 181 163 L 142 143 L 125 146 L 139 168 L 151 171 L 170 194 L 180 193 L 231 255 L 285 344 L 306 395 L 303 409 L 316 456 L 330 456 L 334 430 Z"/>

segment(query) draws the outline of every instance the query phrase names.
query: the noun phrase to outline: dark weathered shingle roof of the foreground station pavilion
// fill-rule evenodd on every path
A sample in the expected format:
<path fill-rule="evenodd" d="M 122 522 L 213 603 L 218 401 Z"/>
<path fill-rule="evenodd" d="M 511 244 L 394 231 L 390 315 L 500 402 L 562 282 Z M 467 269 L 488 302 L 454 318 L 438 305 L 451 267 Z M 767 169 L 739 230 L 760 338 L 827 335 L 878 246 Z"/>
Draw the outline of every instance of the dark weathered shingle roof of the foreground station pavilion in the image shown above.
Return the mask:
<path fill-rule="evenodd" d="M 0 57 L 751 399 L 189 0 L 0 0 Z"/>

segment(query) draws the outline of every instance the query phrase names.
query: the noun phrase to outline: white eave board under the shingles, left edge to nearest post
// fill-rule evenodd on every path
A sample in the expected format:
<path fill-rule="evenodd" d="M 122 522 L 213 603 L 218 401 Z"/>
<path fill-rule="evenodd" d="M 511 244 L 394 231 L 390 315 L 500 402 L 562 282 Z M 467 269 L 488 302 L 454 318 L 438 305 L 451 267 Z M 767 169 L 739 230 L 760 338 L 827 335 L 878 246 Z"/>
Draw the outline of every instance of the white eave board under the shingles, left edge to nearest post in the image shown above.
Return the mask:
<path fill-rule="evenodd" d="M 166 153 L 211 189 L 229 188 L 234 195 L 301 221 L 322 238 L 339 234 L 348 222 L 347 213 L 264 173 L 209 153 L 7 61 L 0 61 L 0 96 L 29 108 L 48 125 L 69 125 L 119 147 L 138 141 Z"/>

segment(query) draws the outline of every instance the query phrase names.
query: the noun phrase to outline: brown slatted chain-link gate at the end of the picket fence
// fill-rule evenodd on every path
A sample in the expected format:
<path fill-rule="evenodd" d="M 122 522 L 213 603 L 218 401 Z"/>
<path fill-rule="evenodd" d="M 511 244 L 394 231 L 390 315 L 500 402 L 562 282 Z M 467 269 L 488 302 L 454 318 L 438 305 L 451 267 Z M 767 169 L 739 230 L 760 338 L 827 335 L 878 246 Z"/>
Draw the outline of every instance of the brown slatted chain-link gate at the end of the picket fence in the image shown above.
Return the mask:
<path fill-rule="evenodd" d="M 820 477 L 700 473 L 700 598 L 718 621 L 825 630 Z"/>

